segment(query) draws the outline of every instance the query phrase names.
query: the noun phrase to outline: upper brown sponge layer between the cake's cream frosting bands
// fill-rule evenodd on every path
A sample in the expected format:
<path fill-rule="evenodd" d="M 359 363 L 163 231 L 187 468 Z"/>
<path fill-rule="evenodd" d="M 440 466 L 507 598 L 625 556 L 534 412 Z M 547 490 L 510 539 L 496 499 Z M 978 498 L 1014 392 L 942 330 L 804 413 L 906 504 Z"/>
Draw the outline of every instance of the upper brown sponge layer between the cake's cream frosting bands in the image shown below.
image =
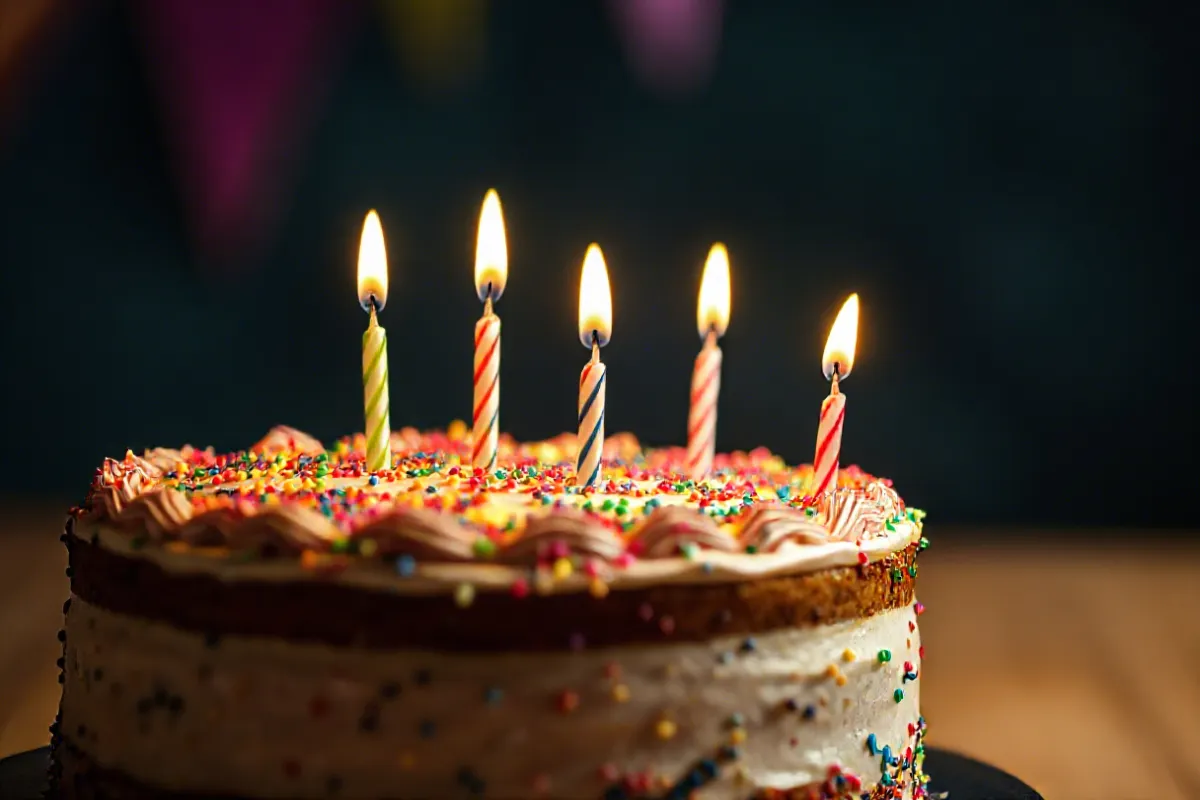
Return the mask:
<path fill-rule="evenodd" d="M 281 637 L 335 646 L 445 651 L 548 651 L 634 643 L 698 642 L 869 616 L 913 602 L 912 545 L 882 561 L 743 583 L 660 585 L 516 597 L 371 591 L 314 577 L 226 582 L 172 573 L 67 535 L 72 591 L 113 612 L 210 637 Z"/>

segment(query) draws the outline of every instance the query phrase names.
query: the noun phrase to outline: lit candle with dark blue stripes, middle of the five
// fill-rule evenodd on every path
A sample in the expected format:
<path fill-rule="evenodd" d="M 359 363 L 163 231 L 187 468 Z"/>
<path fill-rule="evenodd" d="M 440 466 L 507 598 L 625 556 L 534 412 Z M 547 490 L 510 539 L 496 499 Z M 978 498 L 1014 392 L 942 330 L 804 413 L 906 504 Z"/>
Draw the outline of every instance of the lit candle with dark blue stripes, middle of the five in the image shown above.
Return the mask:
<path fill-rule="evenodd" d="M 580 434 L 575 459 L 577 486 L 595 486 L 600 480 L 604 452 L 604 391 L 607 369 L 600 348 L 612 337 L 612 291 L 608 267 L 599 245 L 589 245 L 580 277 L 580 341 L 592 350 L 592 360 L 580 373 Z"/>

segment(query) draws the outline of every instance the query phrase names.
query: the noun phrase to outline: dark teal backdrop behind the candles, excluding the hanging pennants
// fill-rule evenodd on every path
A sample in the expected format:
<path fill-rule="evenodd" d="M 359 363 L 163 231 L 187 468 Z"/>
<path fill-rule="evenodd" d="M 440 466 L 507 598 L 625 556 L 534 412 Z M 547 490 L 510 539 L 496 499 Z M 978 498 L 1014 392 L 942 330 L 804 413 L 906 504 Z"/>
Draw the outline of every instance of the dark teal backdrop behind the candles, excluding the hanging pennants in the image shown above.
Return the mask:
<path fill-rule="evenodd" d="M 590 2 L 498 4 L 482 74 L 415 91 L 362 26 L 278 228 L 188 247 L 145 66 L 96 4 L 0 148 L 5 483 L 106 455 L 361 426 L 354 293 L 378 207 L 394 427 L 469 414 L 479 201 L 511 272 L 503 427 L 572 425 L 584 248 L 614 295 L 608 428 L 682 441 L 695 296 L 728 245 L 719 446 L 811 458 L 863 299 L 844 461 L 938 523 L 1195 525 L 1194 26 L 1166 6 L 733 2 L 712 85 L 641 89 Z"/>

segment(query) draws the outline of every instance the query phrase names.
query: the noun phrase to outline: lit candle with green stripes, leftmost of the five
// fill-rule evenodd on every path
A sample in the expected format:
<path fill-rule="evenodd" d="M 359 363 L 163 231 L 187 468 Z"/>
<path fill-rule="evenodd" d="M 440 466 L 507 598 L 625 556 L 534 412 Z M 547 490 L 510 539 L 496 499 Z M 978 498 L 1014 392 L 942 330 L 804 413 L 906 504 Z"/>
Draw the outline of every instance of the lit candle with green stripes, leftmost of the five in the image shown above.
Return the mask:
<path fill-rule="evenodd" d="M 366 416 L 367 470 L 391 467 L 391 425 L 388 402 L 388 331 L 376 314 L 388 302 L 388 251 L 383 225 L 373 210 L 362 222 L 359 240 L 359 303 L 371 314 L 362 333 L 362 399 Z"/>

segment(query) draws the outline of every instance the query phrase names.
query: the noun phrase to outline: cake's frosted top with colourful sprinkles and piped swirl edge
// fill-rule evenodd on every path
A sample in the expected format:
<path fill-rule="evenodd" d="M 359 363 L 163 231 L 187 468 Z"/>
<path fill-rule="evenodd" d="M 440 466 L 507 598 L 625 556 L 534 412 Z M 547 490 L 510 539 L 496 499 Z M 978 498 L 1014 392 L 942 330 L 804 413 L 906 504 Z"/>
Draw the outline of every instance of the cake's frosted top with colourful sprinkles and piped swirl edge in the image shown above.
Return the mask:
<path fill-rule="evenodd" d="M 580 488 L 575 437 L 499 441 L 493 470 L 470 467 L 469 432 L 392 433 L 391 468 L 368 473 L 361 434 L 331 447 L 276 427 L 251 449 L 155 449 L 106 459 L 76 516 L 122 547 L 313 571 L 371 563 L 392 578 L 510 584 L 514 571 L 565 578 L 686 572 L 712 579 L 852 565 L 913 542 L 922 512 L 890 481 L 842 468 L 839 488 L 810 497 L 810 465 L 766 449 L 719 455 L 700 481 L 682 447 L 605 441 L 604 474 Z M 235 557 L 235 558 L 232 558 Z M 446 572 L 449 570 L 449 572 Z M 637 581 L 640 578 L 641 581 Z"/>

